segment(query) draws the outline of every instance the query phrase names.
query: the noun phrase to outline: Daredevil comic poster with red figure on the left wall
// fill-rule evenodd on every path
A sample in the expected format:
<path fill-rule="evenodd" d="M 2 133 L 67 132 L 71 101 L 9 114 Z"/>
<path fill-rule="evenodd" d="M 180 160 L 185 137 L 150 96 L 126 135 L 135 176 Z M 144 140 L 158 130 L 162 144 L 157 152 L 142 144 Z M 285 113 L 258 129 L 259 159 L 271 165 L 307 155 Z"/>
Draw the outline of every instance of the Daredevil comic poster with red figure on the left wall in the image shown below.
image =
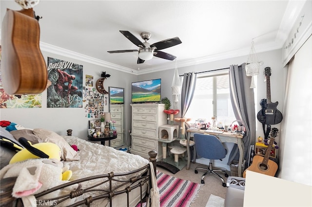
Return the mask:
<path fill-rule="evenodd" d="M 82 107 L 83 66 L 48 57 L 47 108 Z"/>

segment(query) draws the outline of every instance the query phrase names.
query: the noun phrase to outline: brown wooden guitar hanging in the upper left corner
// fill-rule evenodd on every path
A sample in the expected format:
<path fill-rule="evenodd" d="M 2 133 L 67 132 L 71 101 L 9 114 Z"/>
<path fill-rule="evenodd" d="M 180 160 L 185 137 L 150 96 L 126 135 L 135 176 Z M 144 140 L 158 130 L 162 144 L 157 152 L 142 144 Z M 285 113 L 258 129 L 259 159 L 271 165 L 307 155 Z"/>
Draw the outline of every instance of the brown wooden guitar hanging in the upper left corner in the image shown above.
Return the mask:
<path fill-rule="evenodd" d="M 7 9 L 2 21 L 1 76 L 8 94 L 38 94 L 48 72 L 39 48 L 39 22 L 32 8 Z"/>

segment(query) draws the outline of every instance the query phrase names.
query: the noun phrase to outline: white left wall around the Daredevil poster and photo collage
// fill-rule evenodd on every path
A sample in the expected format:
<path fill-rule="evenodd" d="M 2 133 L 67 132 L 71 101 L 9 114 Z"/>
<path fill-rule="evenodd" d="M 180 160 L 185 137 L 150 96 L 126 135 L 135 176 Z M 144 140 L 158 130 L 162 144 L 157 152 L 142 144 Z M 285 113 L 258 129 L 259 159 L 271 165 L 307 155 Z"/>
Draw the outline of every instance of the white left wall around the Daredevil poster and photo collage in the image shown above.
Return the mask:
<path fill-rule="evenodd" d="M 110 74 L 104 82 L 105 89 L 109 86 L 125 88 L 125 108 L 126 108 L 126 132 L 131 128 L 131 83 L 137 81 L 137 75 L 120 72 L 114 69 L 104 68 L 83 60 L 72 59 L 57 54 L 42 52 L 45 61 L 47 57 L 53 57 L 60 60 L 74 62 L 83 65 L 83 76 L 85 74 L 93 75 L 96 82 L 102 71 Z M 84 79 L 84 78 L 83 78 Z M 83 86 L 85 83 L 83 82 Z M 18 123 L 26 128 L 46 128 L 60 135 L 66 135 L 67 129 L 73 130 L 73 136 L 87 139 L 87 129 L 89 120 L 85 117 L 83 108 L 47 108 L 47 91 L 42 92 L 42 108 L 7 108 L 0 109 L 0 120 L 8 120 Z"/>

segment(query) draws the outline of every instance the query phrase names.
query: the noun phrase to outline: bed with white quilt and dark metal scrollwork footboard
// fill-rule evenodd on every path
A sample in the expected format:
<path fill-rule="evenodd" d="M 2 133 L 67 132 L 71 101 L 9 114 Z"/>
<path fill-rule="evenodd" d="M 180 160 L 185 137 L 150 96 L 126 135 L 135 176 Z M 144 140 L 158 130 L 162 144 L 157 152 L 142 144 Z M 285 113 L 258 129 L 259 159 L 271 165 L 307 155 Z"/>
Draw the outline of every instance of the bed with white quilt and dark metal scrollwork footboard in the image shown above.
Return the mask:
<path fill-rule="evenodd" d="M 129 207 L 140 202 L 142 205 L 148 199 L 152 188 L 151 174 L 156 174 L 155 151 L 149 153 L 150 160 L 147 160 L 139 155 L 69 136 L 71 134 L 59 136 L 45 129 L 14 130 L 9 134 L 14 135 L 14 138 L 22 135 L 30 142 L 38 138 L 41 139 L 39 142 L 52 141 L 61 149 L 67 148 L 62 149 L 62 154 L 66 152 L 66 155 L 61 158 L 63 164 L 68 165 L 73 172 L 70 182 L 35 194 L 38 206 Z M 10 135 L 1 129 L 1 136 Z M 73 152 L 71 145 L 76 145 L 79 150 Z M 2 156 L 3 151 L 1 146 L 1 168 L 6 161 Z M 150 165 L 150 161 L 153 165 Z M 0 181 L 1 206 L 23 206 L 22 199 L 12 196 L 16 177 L 6 177 Z M 72 186 L 75 188 L 68 190 Z"/>

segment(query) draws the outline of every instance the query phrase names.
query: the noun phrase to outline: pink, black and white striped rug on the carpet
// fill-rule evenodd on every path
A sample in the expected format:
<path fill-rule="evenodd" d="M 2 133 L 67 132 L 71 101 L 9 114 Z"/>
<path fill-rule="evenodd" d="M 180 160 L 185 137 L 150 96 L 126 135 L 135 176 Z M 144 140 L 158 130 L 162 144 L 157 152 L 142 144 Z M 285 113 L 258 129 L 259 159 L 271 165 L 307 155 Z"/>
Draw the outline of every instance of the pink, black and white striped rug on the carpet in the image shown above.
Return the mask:
<path fill-rule="evenodd" d="M 200 189 L 198 183 L 161 172 L 157 172 L 157 186 L 160 193 L 160 207 L 189 207 Z M 140 204 L 137 207 L 140 207 Z"/>

